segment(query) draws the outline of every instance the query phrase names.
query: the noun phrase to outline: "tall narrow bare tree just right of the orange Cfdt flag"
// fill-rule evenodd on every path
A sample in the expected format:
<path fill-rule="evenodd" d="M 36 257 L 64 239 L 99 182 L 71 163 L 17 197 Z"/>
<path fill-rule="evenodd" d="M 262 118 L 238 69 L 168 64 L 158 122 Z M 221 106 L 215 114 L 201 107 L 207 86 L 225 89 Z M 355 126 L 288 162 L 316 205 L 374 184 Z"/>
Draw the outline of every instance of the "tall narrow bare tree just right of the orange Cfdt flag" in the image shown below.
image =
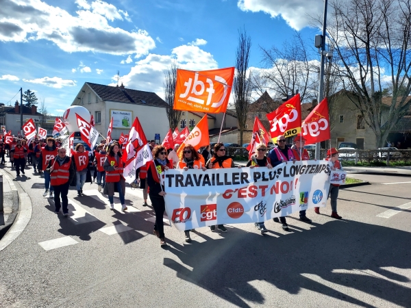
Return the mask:
<path fill-rule="evenodd" d="M 238 31 L 238 46 L 236 51 L 236 73 L 234 75 L 234 105 L 240 128 L 240 144 L 242 144 L 242 134 L 247 123 L 247 114 L 251 103 L 251 73 L 247 72 L 249 67 L 249 57 L 251 49 L 251 38 L 247 32 Z M 248 76 L 247 76 L 248 75 Z"/>

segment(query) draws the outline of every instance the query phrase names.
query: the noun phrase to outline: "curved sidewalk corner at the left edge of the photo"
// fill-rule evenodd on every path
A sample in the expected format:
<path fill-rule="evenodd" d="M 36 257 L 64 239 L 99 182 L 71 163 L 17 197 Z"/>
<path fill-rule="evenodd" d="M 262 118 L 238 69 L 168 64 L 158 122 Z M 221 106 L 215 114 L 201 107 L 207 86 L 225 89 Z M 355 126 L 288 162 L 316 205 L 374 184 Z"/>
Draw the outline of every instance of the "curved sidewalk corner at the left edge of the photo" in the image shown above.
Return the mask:
<path fill-rule="evenodd" d="M 4 212 L 0 213 L 0 239 L 10 229 L 18 212 L 18 192 L 16 186 L 10 179 L 7 172 L 0 169 L 3 175 L 3 208 Z M 0 196 L 1 197 L 1 196 Z"/>

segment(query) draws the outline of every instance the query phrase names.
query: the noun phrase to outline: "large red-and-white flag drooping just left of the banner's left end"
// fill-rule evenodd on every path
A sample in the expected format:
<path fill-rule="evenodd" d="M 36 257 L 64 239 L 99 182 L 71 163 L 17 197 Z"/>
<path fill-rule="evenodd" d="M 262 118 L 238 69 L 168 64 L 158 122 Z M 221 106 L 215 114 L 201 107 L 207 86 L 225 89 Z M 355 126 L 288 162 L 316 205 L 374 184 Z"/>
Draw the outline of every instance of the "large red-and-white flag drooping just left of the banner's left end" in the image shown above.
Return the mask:
<path fill-rule="evenodd" d="M 132 183 L 136 179 L 138 168 L 153 160 L 150 146 L 147 144 L 147 139 L 137 117 L 129 131 L 122 159 L 125 162 L 123 177 L 127 183 Z"/>

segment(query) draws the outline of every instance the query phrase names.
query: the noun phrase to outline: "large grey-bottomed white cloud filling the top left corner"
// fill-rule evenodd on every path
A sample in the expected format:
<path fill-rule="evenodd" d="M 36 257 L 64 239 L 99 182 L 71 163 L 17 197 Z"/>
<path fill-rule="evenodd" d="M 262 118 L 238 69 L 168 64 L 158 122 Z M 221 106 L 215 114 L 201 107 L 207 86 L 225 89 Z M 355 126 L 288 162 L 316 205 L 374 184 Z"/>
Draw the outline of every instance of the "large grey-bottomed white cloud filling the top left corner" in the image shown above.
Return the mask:
<path fill-rule="evenodd" d="M 1 1 L 0 41 L 3 42 L 43 39 L 69 53 L 93 51 L 138 57 L 155 47 L 147 31 L 125 31 L 108 25 L 108 21 L 122 20 L 121 14 L 125 17 L 128 14 L 101 0 L 91 4 L 77 0 L 83 10 L 74 15 L 41 0 L 14 1 Z"/>

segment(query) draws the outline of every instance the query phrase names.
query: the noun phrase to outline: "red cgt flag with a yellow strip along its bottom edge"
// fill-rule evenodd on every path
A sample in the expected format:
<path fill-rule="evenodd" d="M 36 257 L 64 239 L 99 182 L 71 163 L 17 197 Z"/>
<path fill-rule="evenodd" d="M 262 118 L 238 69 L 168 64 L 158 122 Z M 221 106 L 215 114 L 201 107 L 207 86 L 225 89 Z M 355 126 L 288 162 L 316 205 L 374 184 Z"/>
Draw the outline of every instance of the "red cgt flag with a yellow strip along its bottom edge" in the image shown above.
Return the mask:
<path fill-rule="evenodd" d="M 266 115 L 270 121 L 270 135 L 277 142 L 279 135 L 291 137 L 301 132 L 301 101 L 299 94 Z"/>

